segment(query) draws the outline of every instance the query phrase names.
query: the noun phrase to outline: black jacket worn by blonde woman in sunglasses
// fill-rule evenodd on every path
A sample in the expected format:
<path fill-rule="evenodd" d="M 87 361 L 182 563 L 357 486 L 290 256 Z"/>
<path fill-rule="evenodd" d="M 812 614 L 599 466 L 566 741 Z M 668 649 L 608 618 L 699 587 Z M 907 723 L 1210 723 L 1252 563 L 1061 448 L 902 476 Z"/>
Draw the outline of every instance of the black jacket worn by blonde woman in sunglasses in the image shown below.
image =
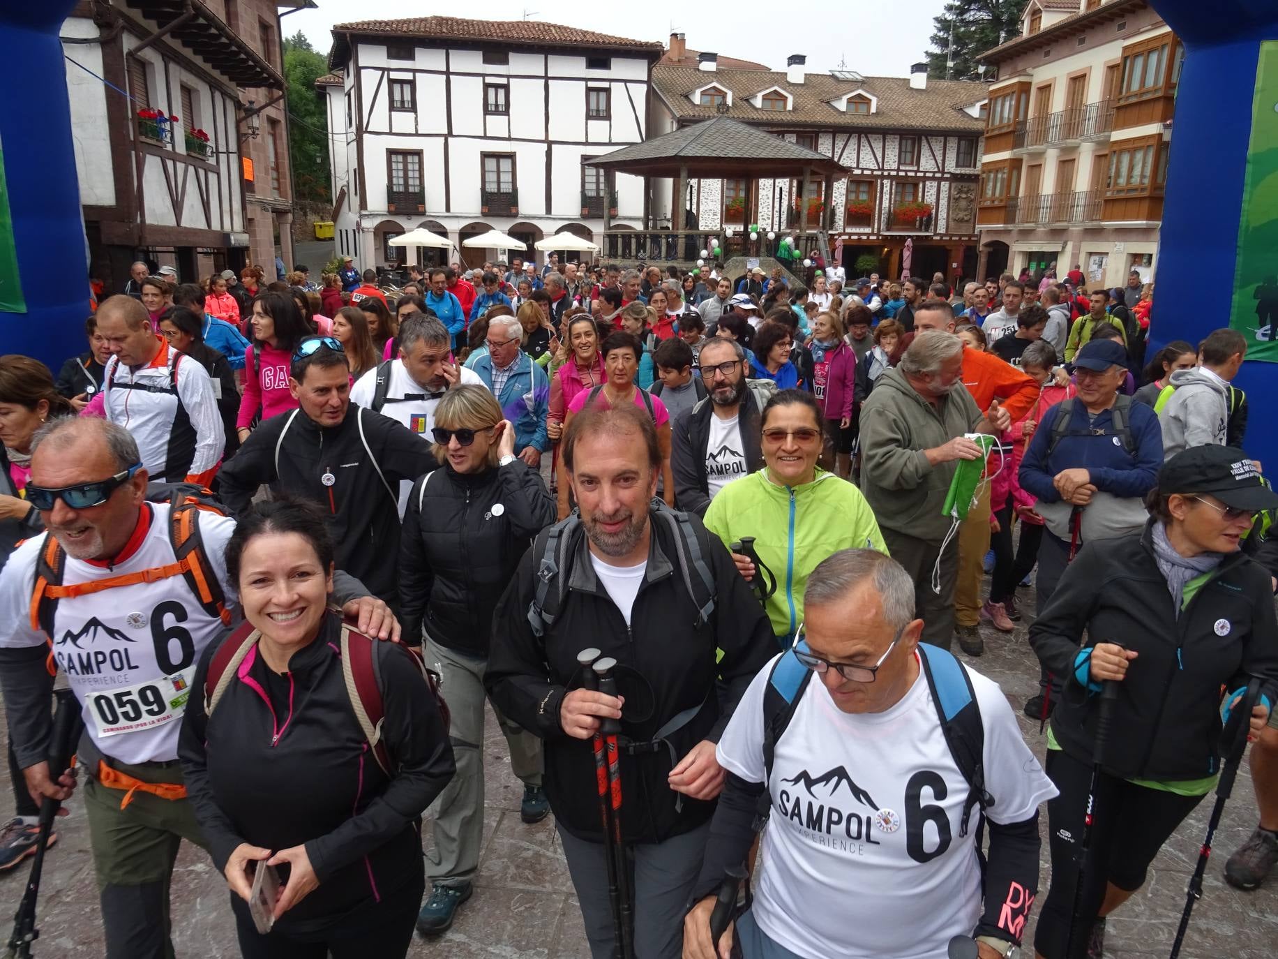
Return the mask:
<path fill-rule="evenodd" d="M 487 656 L 493 607 L 528 543 L 553 522 L 555 500 L 521 459 L 482 473 L 446 464 L 418 480 L 400 536 L 405 642 L 422 642 L 424 625 L 441 646 Z"/>

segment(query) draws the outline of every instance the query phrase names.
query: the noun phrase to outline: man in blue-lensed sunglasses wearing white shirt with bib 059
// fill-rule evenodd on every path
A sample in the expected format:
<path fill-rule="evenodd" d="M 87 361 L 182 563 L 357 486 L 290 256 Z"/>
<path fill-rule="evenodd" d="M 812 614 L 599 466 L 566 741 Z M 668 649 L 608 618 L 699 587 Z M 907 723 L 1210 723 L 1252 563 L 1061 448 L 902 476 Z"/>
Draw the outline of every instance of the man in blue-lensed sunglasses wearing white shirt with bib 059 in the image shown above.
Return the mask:
<path fill-rule="evenodd" d="M 54 683 L 46 656 L 66 675 L 86 720 L 77 753 L 109 959 L 173 955 L 173 863 L 183 839 L 204 843 L 185 799 L 178 730 L 196 664 L 230 621 L 183 574 L 171 506 L 146 501 L 147 480 L 138 445 L 120 426 L 96 417 L 49 423 L 36 436 L 26 490 L 47 532 L 23 543 L 0 573 L 0 687 L 37 802 L 65 800 L 74 788 L 46 762 Z M 222 554 L 235 522 L 208 510 L 190 517 L 202 549 L 188 561 L 233 596 Z M 50 568 L 60 568 L 52 574 L 60 596 L 46 586 Z M 385 604 L 349 577 L 340 581 L 335 601 L 360 632 L 397 635 Z"/>

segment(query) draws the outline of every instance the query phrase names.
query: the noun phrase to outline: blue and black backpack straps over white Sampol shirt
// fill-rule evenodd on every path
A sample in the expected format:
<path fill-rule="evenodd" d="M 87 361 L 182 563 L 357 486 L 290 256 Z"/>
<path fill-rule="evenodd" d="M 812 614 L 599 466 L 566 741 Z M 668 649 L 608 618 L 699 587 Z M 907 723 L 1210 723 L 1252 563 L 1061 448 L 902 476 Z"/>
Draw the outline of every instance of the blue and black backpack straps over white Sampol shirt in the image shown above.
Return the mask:
<path fill-rule="evenodd" d="M 799 648 L 806 651 L 808 646 L 800 641 Z M 950 754 L 967 783 L 967 798 L 964 800 L 962 822 L 958 826 L 958 835 L 965 836 L 973 807 L 979 807 L 980 816 L 984 817 L 985 809 L 994 804 L 994 797 L 985 791 L 985 725 L 967 667 L 948 650 L 925 643 L 919 643 L 916 648 Z M 772 780 L 777 743 L 794 719 L 813 675 L 794 655 L 794 650 L 786 650 L 768 675 L 768 685 L 763 693 L 763 795 L 759 797 L 755 811 L 755 831 L 763 827 L 772 809 L 768 784 Z"/>

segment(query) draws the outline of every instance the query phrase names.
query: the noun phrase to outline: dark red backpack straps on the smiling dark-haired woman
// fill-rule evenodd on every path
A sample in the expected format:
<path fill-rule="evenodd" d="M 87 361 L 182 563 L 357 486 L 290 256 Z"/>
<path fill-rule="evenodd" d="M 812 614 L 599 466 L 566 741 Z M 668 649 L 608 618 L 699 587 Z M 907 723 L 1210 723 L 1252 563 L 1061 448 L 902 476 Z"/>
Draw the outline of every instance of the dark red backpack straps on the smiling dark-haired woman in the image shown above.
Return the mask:
<path fill-rule="evenodd" d="M 235 676 L 240 662 L 257 646 L 258 632 L 252 623 L 244 623 L 231 633 L 221 646 L 213 652 L 208 662 L 208 673 L 204 675 L 204 715 L 212 716 L 213 708 L 226 692 L 231 679 Z M 372 639 L 363 633 L 357 633 L 346 623 L 341 624 L 341 673 L 346 680 L 346 694 L 350 697 L 350 708 L 355 713 L 359 729 L 368 742 L 369 752 L 382 767 L 387 776 L 394 775 L 395 762 L 386 743 L 382 742 L 382 720 L 386 719 L 386 705 L 382 701 L 382 683 L 377 671 L 377 657 L 373 655 L 373 644 L 381 642 Z M 422 653 L 405 646 L 404 650 L 413 657 L 413 664 L 422 671 L 431 694 L 440 706 L 440 716 L 443 720 L 443 731 L 447 734 L 451 716 L 447 703 L 440 694 L 440 675 L 426 667 Z"/>

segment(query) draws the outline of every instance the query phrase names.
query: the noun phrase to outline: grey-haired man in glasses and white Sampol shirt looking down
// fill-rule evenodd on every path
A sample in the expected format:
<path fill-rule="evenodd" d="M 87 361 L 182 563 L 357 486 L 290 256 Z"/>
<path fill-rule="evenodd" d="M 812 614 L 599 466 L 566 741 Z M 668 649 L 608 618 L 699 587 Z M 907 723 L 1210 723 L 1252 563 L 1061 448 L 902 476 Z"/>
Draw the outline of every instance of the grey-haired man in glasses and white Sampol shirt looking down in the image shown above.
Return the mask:
<path fill-rule="evenodd" d="M 914 581 L 881 552 L 826 559 L 804 611 L 795 650 L 754 678 L 720 739 L 727 784 L 684 958 L 726 955 L 731 936 L 745 959 L 944 959 L 955 936 L 974 937 L 982 959 L 1019 956 L 1038 807 L 1056 788 L 1007 699 L 920 646 Z M 768 811 L 754 901 L 716 950 L 714 894 Z"/>

